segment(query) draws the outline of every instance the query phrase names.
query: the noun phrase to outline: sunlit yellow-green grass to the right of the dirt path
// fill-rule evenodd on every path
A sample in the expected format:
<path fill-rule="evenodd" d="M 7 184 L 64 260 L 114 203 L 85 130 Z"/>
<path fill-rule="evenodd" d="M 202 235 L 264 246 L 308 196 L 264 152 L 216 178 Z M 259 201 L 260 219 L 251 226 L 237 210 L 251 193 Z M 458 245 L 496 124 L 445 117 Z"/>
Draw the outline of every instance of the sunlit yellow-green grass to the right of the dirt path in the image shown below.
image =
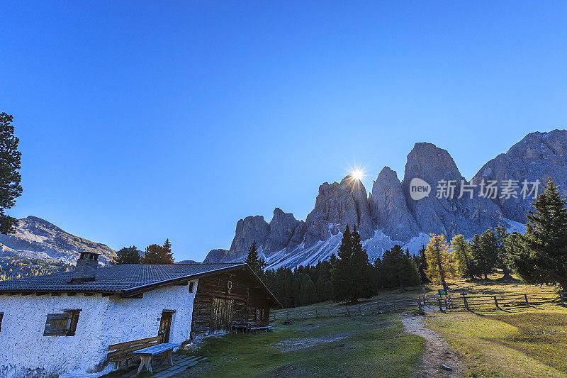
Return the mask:
<path fill-rule="evenodd" d="M 490 281 L 452 283 L 475 284 L 472 295 L 557 291 L 500 276 L 494 274 Z M 437 287 L 431 285 L 430 289 Z M 427 325 L 459 353 L 470 377 L 567 377 L 567 308 L 558 304 L 437 312 L 427 316 Z"/>

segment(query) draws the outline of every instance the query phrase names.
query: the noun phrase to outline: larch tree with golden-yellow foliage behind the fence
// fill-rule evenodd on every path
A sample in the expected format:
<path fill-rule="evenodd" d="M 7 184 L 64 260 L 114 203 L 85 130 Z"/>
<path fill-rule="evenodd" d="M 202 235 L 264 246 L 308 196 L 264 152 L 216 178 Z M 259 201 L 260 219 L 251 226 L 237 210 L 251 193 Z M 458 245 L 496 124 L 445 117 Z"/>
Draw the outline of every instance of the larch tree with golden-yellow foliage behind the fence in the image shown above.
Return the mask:
<path fill-rule="evenodd" d="M 430 236 L 430 242 L 425 248 L 425 260 L 427 261 L 425 275 L 434 284 L 443 284 L 443 289 L 447 291 L 446 279 L 456 277 L 451 248 L 444 235 L 432 233 Z"/>

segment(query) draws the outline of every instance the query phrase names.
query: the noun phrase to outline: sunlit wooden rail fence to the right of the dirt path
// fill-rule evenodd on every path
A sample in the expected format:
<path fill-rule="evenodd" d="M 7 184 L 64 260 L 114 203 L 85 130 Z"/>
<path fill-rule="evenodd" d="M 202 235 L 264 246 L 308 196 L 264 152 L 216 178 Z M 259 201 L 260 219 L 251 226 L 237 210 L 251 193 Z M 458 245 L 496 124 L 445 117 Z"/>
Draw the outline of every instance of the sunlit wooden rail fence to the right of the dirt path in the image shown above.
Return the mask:
<path fill-rule="evenodd" d="M 506 295 L 470 295 L 449 294 L 447 296 L 425 295 L 420 296 L 418 304 L 421 306 L 438 306 L 439 309 L 465 309 L 468 311 L 488 308 L 502 309 L 510 306 L 537 306 L 546 303 L 557 303 L 563 306 L 567 302 L 567 293 L 530 293 Z"/>

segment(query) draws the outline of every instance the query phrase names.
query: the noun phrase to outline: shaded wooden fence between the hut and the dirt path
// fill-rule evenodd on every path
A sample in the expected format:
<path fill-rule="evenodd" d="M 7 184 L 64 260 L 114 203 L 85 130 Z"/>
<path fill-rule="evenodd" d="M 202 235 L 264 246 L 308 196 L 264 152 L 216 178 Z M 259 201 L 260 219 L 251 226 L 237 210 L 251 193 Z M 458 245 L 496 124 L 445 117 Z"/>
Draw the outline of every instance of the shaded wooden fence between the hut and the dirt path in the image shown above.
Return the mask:
<path fill-rule="evenodd" d="M 398 299 L 398 300 L 384 300 L 368 303 L 361 303 L 349 306 L 317 306 L 306 308 L 284 308 L 283 310 L 275 311 L 270 315 L 271 321 L 285 321 L 292 319 L 305 319 L 305 318 L 324 318 L 331 316 L 362 316 L 372 315 L 378 313 L 386 313 L 389 311 L 400 311 L 407 308 L 417 308 L 417 299 Z"/>

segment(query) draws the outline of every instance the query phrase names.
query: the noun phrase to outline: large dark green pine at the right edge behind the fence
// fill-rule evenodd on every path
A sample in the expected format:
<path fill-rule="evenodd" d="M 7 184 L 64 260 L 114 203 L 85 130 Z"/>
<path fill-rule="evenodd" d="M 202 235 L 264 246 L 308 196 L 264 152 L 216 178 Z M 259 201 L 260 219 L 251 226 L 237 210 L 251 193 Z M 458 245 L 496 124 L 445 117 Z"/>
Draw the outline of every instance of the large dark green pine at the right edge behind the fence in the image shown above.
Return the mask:
<path fill-rule="evenodd" d="M 548 179 L 527 213 L 524 248 L 512 260 L 529 284 L 558 284 L 567 291 L 567 202 Z"/>

